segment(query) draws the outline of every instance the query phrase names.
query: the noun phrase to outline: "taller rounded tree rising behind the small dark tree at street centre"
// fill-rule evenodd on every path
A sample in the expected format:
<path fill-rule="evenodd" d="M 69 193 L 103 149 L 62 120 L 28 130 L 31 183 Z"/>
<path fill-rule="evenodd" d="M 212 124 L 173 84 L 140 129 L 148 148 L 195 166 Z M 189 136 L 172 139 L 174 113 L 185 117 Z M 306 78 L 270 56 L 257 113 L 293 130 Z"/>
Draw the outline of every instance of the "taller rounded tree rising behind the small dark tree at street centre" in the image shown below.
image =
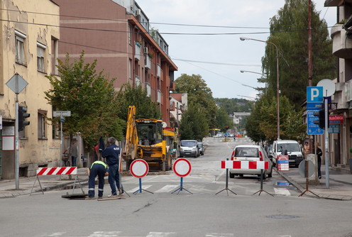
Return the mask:
<path fill-rule="evenodd" d="M 175 80 L 175 84 L 175 92 L 187 92 L 188 104 L 204 109 L 204 116 L 209 127 L 214 128 L 216 126 L 216 104 L 211 89 L 207 87 L 202 76 L 182 74 Z"/>

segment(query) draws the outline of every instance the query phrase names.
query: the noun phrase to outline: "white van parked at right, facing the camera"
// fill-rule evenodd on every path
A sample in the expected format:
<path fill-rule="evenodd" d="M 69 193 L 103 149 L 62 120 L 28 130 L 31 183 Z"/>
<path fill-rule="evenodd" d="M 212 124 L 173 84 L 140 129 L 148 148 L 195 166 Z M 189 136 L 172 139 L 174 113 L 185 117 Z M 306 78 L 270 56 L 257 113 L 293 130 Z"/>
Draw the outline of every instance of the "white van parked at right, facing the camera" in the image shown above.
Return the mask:
<path fill-rule="evenodd" d="M 287 151 L 287 154 L 285 154 L 285 151 Z M 271 155 L 273 155 L 274 166 L 277 164 L 277 155 L 288 155 L 290 166 L 295 165 L 295 167 L 298 167 L 303 160 L 302 149 L 299 147 L 297 140 L 275 140 Z"/>

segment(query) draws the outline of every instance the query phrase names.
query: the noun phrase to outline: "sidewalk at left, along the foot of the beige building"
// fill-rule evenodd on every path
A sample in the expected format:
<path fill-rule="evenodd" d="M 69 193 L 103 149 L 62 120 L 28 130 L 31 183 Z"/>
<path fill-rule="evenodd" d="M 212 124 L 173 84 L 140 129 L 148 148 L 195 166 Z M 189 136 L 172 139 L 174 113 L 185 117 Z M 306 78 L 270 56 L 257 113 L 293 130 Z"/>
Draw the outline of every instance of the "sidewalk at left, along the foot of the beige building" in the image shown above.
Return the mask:
<path fill-rule="evenodd" d="M 75 184 L 75 175 L 71 175 L 71 180 L 69 175 L 40 175 L 40 184 L 43 187 L 43 191 L 53 190 L 53 189 L 64 189 L 67 185 L 73 187 Z M 88 176 L 86 168 L 79 168 L 77 172 L 77 177 L 82 185 L 88 183 Z M 19 179 L 19 189 L 16 189 L 16 180 L 0 180 L 0 198 L 16 197 L 19 195 L 31 194 L 31 189 L 33 188 L 32 195 L 40 192 L 40 184 L 35 177 L 20 177 Z M 76 181 L 75 184 L 75 194 L 82 194 L 82 189 L 79 187 L 79 182 Z M 87 193 L 87 187 L 82 187 L 84 193 Z M 69 194 L 72 194 L 72 189 L 67 189 Z"/>

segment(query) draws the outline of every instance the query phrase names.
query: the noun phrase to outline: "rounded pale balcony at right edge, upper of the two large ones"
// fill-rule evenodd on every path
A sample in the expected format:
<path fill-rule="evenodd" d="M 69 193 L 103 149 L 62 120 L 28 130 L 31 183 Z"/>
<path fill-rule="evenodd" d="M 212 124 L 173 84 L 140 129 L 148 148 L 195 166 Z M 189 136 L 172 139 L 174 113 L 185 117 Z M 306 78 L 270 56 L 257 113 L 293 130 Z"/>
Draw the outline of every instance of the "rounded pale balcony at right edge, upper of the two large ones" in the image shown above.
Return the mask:
<path fill-rule="evenodd" d="M 348 35 L 342 24 L 331 28 L 332 54 L 341 58 L 352 58 L 352 35 Z"/>

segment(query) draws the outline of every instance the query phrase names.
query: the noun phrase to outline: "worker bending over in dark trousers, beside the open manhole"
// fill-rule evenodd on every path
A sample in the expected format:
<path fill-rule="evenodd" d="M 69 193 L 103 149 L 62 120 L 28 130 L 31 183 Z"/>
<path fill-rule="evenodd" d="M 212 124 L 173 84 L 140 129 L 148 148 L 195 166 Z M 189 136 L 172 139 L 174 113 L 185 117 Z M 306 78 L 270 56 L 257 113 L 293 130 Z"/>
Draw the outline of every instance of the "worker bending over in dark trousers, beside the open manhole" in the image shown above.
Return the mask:
<path fill-rule="evenodd" d="M 98 176 L 99 184 L 98 184 L 98 198 L 103 197 L 104 192 L 104 176 L 108 176 L 108 166 L 100 161 L 96 160 L 91 165 L 90 169 L 87 168 L 87 173 L 89 176 L 88 181 L 88 199 L 94 199 L 95 196 L 95 177 Z"/>

